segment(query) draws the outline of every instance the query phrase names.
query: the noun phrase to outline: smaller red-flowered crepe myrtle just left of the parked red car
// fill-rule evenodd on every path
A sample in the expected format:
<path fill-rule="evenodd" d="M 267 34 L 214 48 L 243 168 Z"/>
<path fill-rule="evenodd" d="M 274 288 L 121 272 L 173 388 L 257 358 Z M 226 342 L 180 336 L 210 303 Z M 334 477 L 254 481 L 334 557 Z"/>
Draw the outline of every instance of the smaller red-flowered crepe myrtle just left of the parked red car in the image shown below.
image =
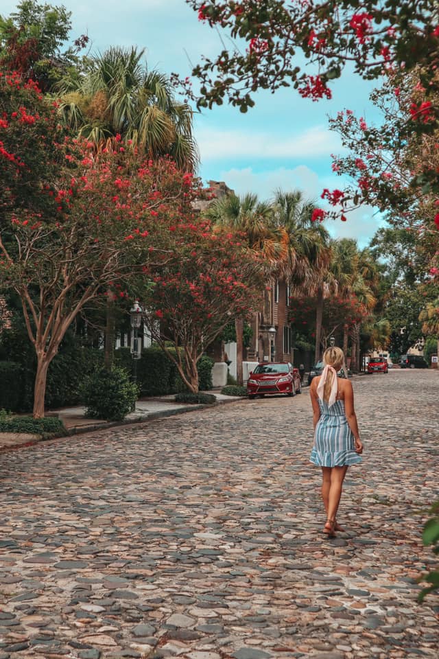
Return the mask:
<path fill-rule="evenodd" d="M 169 227 L 175 248 L 165 266 L 149 264 L 145 323 L 188 389 L 198 392 L 197 363 L 230 320 L 257 308 L 261 261 L 239 233 L 196 218 Z M 174 350 L 169 349 L 173 347 Z"/>

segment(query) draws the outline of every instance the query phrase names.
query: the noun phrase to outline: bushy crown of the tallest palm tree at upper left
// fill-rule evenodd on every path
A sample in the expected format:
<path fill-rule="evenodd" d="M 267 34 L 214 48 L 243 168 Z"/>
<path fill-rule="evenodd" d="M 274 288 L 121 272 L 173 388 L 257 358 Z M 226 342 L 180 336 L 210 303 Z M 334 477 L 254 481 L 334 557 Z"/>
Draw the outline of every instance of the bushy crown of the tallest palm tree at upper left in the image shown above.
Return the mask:
<path fill-rule="evenodd" d="M 91 60 L 84 75 L 64 78 L 58 86 L 63 121 L 98 151 L 111 148 L 119 135 L 148 156 L 169 155 L 193 172 L 198 149 L 192 110 L 176 102 L 163 73 L 147 70 L 144 52 L 111 47 Z"/>

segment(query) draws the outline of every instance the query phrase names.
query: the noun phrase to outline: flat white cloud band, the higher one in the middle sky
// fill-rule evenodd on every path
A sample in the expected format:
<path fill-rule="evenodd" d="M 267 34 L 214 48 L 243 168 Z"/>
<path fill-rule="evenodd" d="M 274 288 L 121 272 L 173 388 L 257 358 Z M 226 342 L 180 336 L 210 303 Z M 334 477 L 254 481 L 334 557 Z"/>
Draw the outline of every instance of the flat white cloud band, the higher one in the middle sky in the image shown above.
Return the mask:
<path fill-rule="evenodd" d="M 340 140 L 324 126 L 312 126 L 297 135 L 274 132 L 211 130 L 196 132 L 202 160 L 224 158 L 317 158 L 340 153 Z"/>

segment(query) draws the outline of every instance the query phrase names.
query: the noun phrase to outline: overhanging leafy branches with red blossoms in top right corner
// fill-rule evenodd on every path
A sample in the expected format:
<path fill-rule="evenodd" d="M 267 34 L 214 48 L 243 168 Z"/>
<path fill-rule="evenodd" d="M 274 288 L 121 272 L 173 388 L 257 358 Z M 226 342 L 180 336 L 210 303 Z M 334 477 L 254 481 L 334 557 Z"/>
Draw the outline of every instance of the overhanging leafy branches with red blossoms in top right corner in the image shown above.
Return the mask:
<path fill-rule="evenodd" d="M 366 80 L 407 76 L 420 69 L 425 97 L 412 94 L 410 130 L 429 135 L 439 126 L 439 13 L 437 0 L 187 0 L 198 19 L 224 31 L 230 41 L 213 58 L 202 58 L 186 90 L 199 108 L 228 100 L 242 112 L 260 89 L 293 86 L 313 101 L 331 98 L 331 80 L 348 67 Z M 235 40 L 236 43 L 235 43 Z M 228 47 L 224 45 L 230 43 Z M 305 59 L 305 65 L 302 62 Z M 413 181 L 439 194 L 435 167 L 425 162 Z M 361 189 L 359 191 L 361 193 Z M 329 203 L 337 205 L 328 191 Z M 327 211 L 316 209 L 313 220 Z M 333 211 L 331 215 L 340 214 Z M 342 219 L 346 216 L 342 215 Z"/>

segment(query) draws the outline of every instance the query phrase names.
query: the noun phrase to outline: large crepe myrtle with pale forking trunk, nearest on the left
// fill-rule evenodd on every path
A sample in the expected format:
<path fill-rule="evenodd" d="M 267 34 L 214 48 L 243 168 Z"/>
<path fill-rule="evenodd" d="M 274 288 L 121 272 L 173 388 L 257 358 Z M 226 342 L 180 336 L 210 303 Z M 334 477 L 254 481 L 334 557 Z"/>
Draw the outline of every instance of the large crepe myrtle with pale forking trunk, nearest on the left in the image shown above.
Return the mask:
<path fill-rule="evenodd" d="M 13 84 L 21 82 L 14 78 Z M 34 86 L 26 91 L 38 95 Z M 3 113 L 0 135 L 8 148 L 0 149 L 0 163 L 32 171 L 27 150 L 38 139 L 40 121 L 25 105 Z M 8 139 L 17 122 L 28 137 L 16 145 L 26 145 L 20 154 Z M 47 154 L 59 149 L 67 167 L 40 185 L 38 194 L 47 205 L 32 209 L 19 199 L 14 203 L 11 192 L 0 226 L 0 283 L 19 294 L 36 351 L 36 418 L 44 416 L 47 371 L 69 325 L 86 304 L 138 276 L 145 262 L 164 266 L 167 225 L 161 219 L 192 213 L 197 194 L 192 176 L 171 161 L 142 161 L 124 147 L 95 159 L 91 143 L 73 141 L 66 150 L 69 137 L 62 142 L 57 136 L 55 143 L 49 137 Z M 119 295 L 126 295 L 123 288 Z"/>

